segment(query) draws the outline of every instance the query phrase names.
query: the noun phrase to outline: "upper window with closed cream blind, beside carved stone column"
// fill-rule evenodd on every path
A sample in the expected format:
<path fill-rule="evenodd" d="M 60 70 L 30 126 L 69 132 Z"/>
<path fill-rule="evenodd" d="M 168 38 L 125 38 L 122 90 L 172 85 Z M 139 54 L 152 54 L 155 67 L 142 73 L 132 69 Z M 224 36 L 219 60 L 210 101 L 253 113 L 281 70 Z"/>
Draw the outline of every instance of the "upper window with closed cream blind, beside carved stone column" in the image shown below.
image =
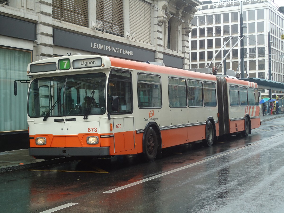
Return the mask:
<path fill-rule="evenodd" d="M 134 39 L 151 44 L 151 5 L 140 0 L 130 0 L 130 32 Z"/>

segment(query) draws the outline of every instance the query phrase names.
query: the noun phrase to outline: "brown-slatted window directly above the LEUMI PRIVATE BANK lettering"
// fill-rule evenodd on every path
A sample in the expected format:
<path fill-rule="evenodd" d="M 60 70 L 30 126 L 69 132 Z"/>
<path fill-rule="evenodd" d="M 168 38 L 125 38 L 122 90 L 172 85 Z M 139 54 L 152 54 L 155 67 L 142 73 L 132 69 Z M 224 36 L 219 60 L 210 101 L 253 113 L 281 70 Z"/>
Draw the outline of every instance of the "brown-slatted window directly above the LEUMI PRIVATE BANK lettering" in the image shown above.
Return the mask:
<path fill-rule="evenodd" d="M 124 36 L 123 1 L 96 1 L 97 21 L 103 22 L 100 29 L 117 36 Z"/>

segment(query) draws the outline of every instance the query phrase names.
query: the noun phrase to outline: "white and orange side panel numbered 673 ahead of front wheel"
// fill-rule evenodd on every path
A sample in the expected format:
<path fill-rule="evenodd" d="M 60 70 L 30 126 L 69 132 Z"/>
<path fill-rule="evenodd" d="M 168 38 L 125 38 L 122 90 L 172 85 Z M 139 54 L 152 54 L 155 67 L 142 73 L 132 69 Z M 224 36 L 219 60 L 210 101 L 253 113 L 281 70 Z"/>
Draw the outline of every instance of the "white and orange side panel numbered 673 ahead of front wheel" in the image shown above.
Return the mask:
<path fill-rule="evenodd" d="M 135 148 L 133 117 L 114 118 L 114 152 L 122 152 Z"/>

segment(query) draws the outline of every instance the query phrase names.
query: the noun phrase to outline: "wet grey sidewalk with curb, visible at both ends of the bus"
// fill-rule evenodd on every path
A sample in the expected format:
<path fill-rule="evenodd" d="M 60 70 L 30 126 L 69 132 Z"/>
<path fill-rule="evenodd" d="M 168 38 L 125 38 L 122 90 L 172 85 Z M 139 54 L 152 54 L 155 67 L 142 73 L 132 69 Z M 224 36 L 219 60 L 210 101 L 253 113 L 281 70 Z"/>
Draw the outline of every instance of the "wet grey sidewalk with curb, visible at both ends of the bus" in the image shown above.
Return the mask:
<path fill-rule="evenodd" d="M 275 114 L 275 115 L 266 115 L 266 116 L 261 115 L 260 122 L 262 123 L 280 117 L 284 117 L 284 113 Z M 29 156 L 28 149 L 6 151 L 0 153 L 0 174 L 5 172 L 13 172 L 16 170 L 24 170 L 40 166 L 47 166 L 70 160 L 76 160 L 76 158 L 70 156 L 70 157 L 63 157 L 63 158 L 57 158 L 45 161 L 43 159 L 35 159 L 33 156 Z"/>

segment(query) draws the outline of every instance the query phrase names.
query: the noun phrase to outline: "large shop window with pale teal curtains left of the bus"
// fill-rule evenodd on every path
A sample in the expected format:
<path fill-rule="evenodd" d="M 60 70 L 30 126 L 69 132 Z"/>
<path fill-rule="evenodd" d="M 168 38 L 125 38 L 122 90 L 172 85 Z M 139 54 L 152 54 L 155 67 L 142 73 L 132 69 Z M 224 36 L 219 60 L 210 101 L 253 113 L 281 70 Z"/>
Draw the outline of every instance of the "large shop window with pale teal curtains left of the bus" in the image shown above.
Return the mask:
<path fill-rule="evenodd" d="M 18 83 L 18 95 L 14 96 L 14 80 L 30 80 L 26 76 L 32 62 L 31 51 L 0 48 L 0 132 L 27 130 L 28 83 Z M 5 101 L 3 101 L 5 100 Z"/>

